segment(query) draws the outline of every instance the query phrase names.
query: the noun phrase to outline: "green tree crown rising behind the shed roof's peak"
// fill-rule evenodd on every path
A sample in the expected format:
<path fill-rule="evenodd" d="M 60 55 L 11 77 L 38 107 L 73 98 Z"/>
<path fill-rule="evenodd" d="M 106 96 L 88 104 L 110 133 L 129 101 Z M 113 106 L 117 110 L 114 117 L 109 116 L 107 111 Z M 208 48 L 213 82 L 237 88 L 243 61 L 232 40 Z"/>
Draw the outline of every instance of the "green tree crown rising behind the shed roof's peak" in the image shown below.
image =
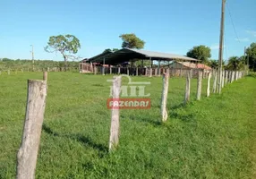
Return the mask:
<path fill-rule="evenodd" d="M 121 36 L 119 36 L 119 38 L 122 38 L 122 40 L 123 40 L 122 47 L 141 49 L 145 45 L 145 42 L 143 40 L 141 40 L 141 38 L 138 38 L 133 33 L 122 34 Z"/>

